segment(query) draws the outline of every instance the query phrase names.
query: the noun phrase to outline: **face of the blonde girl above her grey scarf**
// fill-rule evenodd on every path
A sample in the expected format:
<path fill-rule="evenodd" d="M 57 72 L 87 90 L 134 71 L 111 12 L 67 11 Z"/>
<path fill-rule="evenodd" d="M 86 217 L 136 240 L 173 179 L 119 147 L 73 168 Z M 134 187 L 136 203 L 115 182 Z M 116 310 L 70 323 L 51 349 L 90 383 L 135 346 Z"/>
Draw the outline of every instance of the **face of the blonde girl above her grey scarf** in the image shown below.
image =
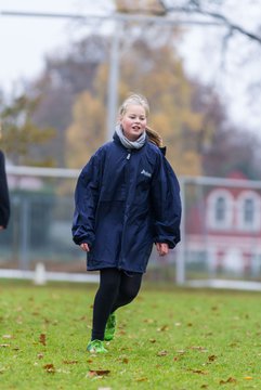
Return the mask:
<path fill-rule="evenodd" d="M 139 104 L 128 105 L 126 113 L 120 117 L 120 125 L 128 140 L 138 140 L 147 125 L 145 108 Z"/>

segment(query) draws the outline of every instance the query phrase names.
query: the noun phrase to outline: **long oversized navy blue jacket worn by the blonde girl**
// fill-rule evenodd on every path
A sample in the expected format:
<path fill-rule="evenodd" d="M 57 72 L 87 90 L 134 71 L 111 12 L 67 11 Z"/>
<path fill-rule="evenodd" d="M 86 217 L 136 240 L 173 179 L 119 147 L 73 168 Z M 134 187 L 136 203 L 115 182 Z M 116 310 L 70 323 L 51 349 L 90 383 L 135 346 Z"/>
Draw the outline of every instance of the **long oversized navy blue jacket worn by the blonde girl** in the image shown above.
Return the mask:
<path fill-rule="evenodd" d="M 88 243 L 88 270 L 145 272 L 153 243 L 180 240 L 177 177 L 153 143 L 127 150 L 117 134 L 82 169 L 75 192 L 73 238 Z"/>

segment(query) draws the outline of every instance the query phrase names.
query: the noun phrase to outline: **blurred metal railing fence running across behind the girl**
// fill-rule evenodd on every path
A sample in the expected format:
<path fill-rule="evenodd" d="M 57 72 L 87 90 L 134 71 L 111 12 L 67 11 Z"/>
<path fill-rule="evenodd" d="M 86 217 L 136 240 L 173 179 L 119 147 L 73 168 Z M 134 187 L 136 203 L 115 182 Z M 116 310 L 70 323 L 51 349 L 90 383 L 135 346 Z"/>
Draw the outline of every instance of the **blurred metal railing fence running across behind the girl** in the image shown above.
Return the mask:
<path fill-rule="evenodd" d="M 76 281 L 76 274 L 78 281 L 88 280 L 84 253 L 73 243 L 70 231 L 79 170 L 8 166 L 6 172 L 12 213 L 9 229 L 0 234 L 0 277 L 32 278 L 43 264 L 49 280 Z M 245 284 L 257 289 L 261 285 L 261 227 L 240 231 L 233 217 L 229 230 L 214 230 L 209 226 L 208 197 L 220 188 L 235 203 L 243 192 L 253 194 L 256 219 L 261 221 L 261 182 L 180 178 L 180 184 L 182 240 L 165 259 L 153 251 L 148 276 L 179 285 L 234 288 L 237 283 L 238 288 Z M 230 207 L 239 212 L 236 204 Z"/>

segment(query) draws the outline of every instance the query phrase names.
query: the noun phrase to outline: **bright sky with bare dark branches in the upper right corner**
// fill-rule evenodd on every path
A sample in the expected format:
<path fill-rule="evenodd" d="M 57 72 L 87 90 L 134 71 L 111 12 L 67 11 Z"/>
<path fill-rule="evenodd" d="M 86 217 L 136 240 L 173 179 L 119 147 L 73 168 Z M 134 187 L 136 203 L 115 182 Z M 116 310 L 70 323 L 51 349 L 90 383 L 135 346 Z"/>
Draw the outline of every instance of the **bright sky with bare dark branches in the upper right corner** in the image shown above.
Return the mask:
<path fill-rule="evenodd" d="M 191 28 L 188 62 L 195 74 L 223 94 L 231 116 L 243 129 L 261 127 L 261 8 L 257 0 L 159 0 L 168 17 L 201 18 L 213 28 Z M 219 24 L 217 25 L 217 22 Z M 197 47 L 195 36 L 200 42 Z M 186 44 L 184 43 L 184 46 Z M 198 48 L 201 54 L 197 53 Z M 195 65 L 197 56 L 197 69 Z M 194 61 L 194 64 L 192 62 Z M 206 64 L 207 62 L 207 64 Z M 208 76 L 206 76 L 208 74 Z"/>

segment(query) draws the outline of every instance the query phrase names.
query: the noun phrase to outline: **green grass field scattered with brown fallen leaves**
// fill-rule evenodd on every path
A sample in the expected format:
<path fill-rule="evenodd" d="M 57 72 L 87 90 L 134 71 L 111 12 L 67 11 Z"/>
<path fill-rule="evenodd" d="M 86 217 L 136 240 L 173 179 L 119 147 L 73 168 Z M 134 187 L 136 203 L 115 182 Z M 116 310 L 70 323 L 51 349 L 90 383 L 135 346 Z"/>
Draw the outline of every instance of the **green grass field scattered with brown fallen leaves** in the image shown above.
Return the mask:
<path fill-rule="evenodd" d="M 0 389 L 261 389 L 260 292 L 144 284 L 90 355 L 96 286 L 0 283 Z"/>

